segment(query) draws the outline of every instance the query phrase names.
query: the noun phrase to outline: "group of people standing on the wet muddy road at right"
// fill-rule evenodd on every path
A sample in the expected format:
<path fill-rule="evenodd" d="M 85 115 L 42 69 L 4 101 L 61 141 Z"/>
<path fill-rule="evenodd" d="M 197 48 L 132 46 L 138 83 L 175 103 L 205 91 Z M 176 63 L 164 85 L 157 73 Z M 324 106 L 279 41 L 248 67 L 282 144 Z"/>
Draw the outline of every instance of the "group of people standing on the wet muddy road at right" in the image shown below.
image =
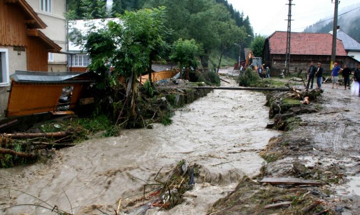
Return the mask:
<path fill-rule="evenodd" d="M 332 88 L 336 86 L 338 88 L 339 85 L 339 74 L 342 73 L 343 79 L 344 79 L 344 87 L 345 90 L 347 87 L 349 89 L 352 89 L 352 94 L 356 94 L 360 96 L 360 62 L 357 65 L 357 68 L 354 71 L 353 80 L 354 83 L 352 84 L 352 88 L 350 88 L 350 75 L 352 74 L 352 71 L 350 68 L 348 68 L 348 65 L 344 65 L 344 69 L 342 69 L 338 63 L 334 63 L 333 69 L 331 72 L 331 81 L 332 81 Z M 323 74 L 323 68 L 321 67 L 321 63 L 317 63 L 317 67 L 315 67 L 314 62 L 310 63 L 310 67 L 308 70 L 308 85 L 307 89 L 312 89 L 314 78 L 316 77 L 316 88 L 321 88 L 322 83 L 322 74 Z M 310 85 L 311 84 L 311 85 Z"/>

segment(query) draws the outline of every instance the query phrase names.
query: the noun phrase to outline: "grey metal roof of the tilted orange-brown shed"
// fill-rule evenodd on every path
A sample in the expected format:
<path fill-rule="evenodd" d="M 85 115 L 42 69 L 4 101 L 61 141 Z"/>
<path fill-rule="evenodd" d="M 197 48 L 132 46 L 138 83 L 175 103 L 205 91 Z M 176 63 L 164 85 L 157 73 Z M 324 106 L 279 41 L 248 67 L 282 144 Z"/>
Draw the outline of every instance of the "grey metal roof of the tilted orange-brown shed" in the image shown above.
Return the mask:
<path fill-rule="evenodd" d="M 18 83 L 81 83 L 94 82 L 94 73 L 78 73 L 78 72 L 29 72 L 15 71 L 10 75 L 12 81 Z"/>

